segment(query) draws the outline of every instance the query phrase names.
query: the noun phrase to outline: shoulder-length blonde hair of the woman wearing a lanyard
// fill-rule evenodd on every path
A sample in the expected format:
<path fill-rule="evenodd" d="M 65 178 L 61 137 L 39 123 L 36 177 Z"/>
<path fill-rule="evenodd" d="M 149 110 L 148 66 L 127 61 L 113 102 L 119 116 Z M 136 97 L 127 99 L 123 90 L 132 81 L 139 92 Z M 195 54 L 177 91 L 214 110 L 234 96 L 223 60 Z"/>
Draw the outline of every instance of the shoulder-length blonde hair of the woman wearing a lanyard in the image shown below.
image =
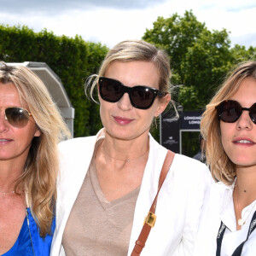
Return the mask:
<path fill-rule="evenodd" d="M 247 61 L 235 67 L 226 77 L 212 101 L 207 105 L 201 119 L 201 135 L 205 140 L 204 150 L 212 177 L 227 185 L 234 183 L 236 165 L 225 153 L 221 143 L 220 125 L 216 107 L 228 100 L 239 89 L 243 79 L 256 79 L 256 61 Z"/>

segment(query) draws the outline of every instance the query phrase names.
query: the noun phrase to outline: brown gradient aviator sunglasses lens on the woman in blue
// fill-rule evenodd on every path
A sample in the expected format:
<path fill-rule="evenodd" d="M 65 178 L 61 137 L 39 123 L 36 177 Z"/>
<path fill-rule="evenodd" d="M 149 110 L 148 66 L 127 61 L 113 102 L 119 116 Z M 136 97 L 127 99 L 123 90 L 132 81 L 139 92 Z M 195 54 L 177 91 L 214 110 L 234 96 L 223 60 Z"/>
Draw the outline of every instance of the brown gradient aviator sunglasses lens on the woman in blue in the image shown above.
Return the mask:
<path fill-rule="evenodd" d="M 26 126 L 31 115 L 32 113 L 29 113 L 25 108 L 9 107 L 5 108 L 4 111 L 4 119 L 16 128 Z"/>

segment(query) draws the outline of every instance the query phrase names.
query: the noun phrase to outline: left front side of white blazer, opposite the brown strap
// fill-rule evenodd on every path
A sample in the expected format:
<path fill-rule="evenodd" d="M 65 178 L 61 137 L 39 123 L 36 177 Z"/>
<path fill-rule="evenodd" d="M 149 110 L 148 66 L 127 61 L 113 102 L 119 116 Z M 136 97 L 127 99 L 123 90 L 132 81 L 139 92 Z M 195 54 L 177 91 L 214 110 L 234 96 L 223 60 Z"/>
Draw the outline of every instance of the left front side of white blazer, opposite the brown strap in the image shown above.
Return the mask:
<path fill-rule="evenodd" d="M 60 251 L 68 216 L 79 195 L 79 190 L 90 166 L 96 141 L 101 134 L 102 130 L 98 132 L 97 136 L 75 138 L 59 145 L 61 173 L 57 181 L 56 232 L 50 255 L 56 255 L 55 253 Z"/>

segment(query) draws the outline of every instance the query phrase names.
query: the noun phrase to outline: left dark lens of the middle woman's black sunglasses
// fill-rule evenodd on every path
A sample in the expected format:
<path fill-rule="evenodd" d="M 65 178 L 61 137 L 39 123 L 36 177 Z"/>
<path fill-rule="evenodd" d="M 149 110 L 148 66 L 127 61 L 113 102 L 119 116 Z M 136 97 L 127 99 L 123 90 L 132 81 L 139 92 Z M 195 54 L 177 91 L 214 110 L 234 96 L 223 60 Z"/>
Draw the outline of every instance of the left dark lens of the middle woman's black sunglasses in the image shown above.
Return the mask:
<path fill-rule="evenodd" d="M 100 95 L 107 102 L 118 102 L 123 96 L 122 85 L 113 79 L 100 79 Z"/>

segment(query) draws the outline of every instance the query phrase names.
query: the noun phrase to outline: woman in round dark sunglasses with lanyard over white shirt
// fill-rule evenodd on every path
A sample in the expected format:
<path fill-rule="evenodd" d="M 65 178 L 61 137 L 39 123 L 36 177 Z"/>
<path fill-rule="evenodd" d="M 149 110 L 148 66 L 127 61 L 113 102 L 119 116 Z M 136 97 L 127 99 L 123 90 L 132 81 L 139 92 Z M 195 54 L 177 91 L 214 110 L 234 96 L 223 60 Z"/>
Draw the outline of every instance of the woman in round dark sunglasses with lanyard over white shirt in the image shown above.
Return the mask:
<path fill-rule="evenodd" d="M 256 61 L 234 69 L 201 119 L 218 183 L 204 207 L 195 255 L 256 253 Z"/>

